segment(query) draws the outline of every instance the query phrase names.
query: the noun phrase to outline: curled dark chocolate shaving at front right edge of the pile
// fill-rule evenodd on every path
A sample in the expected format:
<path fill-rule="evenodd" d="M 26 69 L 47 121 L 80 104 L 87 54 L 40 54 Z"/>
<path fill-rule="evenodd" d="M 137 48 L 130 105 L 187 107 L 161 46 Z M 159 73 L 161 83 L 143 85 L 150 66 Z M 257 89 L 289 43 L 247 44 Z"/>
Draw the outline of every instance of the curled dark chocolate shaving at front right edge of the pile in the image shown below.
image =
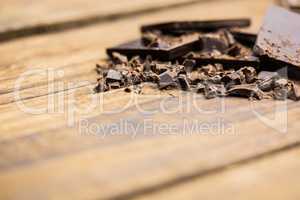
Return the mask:
<path fill-rule="evenodd" d="M 249 97 L 256 99 L 263 99 L 264 93 L 261 91 L 256 84 L 244 84 L 244 85 L 235 85 L 232 86 L 227 94 L 230 96 L 241 96 L 241 97 Z"/>

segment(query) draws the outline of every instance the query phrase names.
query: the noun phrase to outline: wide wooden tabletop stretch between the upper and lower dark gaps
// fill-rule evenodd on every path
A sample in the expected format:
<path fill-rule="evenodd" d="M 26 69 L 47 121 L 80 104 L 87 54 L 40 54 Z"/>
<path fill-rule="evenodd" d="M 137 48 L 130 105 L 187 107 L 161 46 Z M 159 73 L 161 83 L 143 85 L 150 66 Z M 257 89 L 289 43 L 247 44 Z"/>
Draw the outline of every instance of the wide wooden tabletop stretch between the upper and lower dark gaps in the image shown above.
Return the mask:
<path fill-rule="evenodd" d="M 192 99 L 178 91 L 157 93 L 148 88 L 144 95 L 133 96 L 122 90 L 105 94 L 91 91 L 96 80 L 94 66 L 105 58 L 105 48 L 138 37 L 138 26 L 143 23 L 251 17 L 250 30 L 255 32 L 269 3 L 205 1 L 139 18 L 1 44 L 0 199 L 140 197 L 298 145 L 299 103 L 250 102 L 238 98 L 204 100 L 196 96 L 194 103 L 200 109 L 196 110 Z M 19 76 L 28 70 L 50 67 L 61 70 L 64 76 L 50 81 L 46 81 L 45 74 L 27 76 L 21 84 L 21 100 L 16 101 L 13 90 Z M 51 83 L 55 84 L 54 89 L 48 90 Z M 92 98 L 97 98 L 95 107 L 84 112 Z M 181 98 L 182 103 L 177 105 Z M 22 110 L 23 104 L 46 110 L 30 114 Z M 168 111 L 179 111 L 168 114 L 163 112 L 162 105 Z M 124 107 L 122 112 L 104 114 Z M 157 112 L 145 114 L 141 109 Z M 178 130 L 169 134 L 137 130 L 135 135 L 134 130 L 109 134 L 105 129 L 95 136 L 80 132 L 86 130 L 85 126 L 80 127 L 84 125 L 83 119 L 102 127 L 120 125 L 122 120 L 135 125 L 152 120 L 152 125 L 167 122 Z M 184 123 L 193 120 L 209 128 L 184 135 Z M 228 127 L 211 128 L 220 120 L 221 125 Z M 279 132 L 286 127 L 288 134 Z M 220 134 L 218 130 L 227 132 Z M 105 137 L 101 135 L 104 133 Z"/>

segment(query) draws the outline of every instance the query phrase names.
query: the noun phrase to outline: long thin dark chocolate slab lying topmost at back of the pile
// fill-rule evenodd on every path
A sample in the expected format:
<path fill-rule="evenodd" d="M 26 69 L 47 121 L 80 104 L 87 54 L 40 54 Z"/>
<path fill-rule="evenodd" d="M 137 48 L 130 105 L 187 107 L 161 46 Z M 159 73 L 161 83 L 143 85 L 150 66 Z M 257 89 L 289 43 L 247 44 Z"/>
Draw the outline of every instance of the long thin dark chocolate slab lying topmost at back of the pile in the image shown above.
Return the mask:
<path fill-rule="evenodd" d="M 178 21 L 160 24 L 151 24 L 141 27 L 142 32 L 160 31 L 162 33 L 213 32 L 219 29 L 250 26 L 250 19 L 228 19 L 209 21 Z"/>

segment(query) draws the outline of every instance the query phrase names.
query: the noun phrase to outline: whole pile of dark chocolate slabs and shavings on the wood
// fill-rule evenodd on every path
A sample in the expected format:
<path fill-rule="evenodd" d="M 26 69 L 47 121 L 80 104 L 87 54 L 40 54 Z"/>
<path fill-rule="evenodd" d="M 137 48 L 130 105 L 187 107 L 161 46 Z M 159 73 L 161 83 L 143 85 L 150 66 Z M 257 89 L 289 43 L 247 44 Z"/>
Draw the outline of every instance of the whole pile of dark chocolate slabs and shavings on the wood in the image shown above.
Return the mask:
<path fill-rule="evenodd" d="M 249 19 L 143 26 L 140 39 L 107 49 L 106 66 L 97 65 L 95 91 L 139 92 L 141 83 L 152 82 L 158 90 L 181 89 L 206 98 L 299 100 L 296 84 L 287 79 L 288 73 L 297 77 L 300 67 L 299 21 L 299 15 L 273 6 L 258 36 L 241 31 Z"/>

